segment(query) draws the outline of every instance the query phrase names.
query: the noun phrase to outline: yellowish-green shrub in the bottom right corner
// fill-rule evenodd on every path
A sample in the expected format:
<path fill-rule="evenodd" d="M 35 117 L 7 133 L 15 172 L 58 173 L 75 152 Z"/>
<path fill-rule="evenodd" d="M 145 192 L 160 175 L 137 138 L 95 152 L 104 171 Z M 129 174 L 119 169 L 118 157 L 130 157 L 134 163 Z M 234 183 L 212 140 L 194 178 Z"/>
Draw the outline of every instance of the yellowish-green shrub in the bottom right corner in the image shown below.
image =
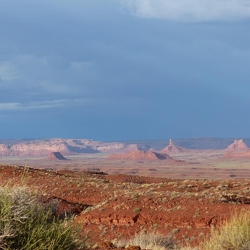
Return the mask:
<path fill-rule="evenodd" d="M 204 250 L 248 250 L 250 249 L 250 216 L 234 213 L 231 220 L 220 229 L 212 229 L 210 240 Z"/>

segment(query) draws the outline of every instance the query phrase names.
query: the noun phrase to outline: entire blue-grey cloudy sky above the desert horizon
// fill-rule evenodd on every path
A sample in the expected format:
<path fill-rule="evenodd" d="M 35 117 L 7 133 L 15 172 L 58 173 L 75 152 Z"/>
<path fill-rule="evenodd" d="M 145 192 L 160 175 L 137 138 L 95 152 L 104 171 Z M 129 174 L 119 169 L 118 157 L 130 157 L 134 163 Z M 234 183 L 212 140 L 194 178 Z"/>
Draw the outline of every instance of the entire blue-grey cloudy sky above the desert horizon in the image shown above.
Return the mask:
<path fill-rule="evenodd" d="M 250 137 L 249 0 L 0 0 L 0 139 Z"/>

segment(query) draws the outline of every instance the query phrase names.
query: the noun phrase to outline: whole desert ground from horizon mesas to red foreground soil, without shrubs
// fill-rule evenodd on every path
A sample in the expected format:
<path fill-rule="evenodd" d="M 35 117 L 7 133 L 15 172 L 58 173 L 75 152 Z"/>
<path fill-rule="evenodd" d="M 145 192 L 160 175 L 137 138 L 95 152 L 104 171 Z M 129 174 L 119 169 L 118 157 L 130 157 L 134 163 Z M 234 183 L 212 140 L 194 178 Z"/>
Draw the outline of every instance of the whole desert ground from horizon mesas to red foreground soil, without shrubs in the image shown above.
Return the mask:
<path fill-rule="evenodd" d="M 95 249 L 123 249 L 120 242 L 141 232 L 200 249 L 212 228 L 249 209 L 245 141 L 1 141 L 0 179 L 56 199 Z"/>

